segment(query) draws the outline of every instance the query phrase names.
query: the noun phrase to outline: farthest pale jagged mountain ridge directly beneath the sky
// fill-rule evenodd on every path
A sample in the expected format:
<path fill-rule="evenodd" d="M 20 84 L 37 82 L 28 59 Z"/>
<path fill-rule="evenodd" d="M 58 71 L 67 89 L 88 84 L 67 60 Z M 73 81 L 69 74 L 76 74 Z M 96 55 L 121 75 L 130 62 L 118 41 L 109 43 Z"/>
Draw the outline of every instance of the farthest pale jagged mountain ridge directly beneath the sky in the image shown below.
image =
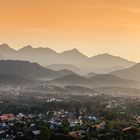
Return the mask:
<path fill-rule="evenodd" d="M 86 73 L 108 73 L 114 70 L 128 68 L 135 64 L 135 62 L 110 54 L 100 54 L 89 58 L 77 49 L 57 53 L 50 48 L 33 48 L 29 45 L 19 50 L 14 50 L 7 44 L 0 45 L 0 59 L 24 60 L 36 62 L 42 66 L 52 64 L 61 64 L 62 66 L 62 64 L 67 64 L 76 66 Z"/>

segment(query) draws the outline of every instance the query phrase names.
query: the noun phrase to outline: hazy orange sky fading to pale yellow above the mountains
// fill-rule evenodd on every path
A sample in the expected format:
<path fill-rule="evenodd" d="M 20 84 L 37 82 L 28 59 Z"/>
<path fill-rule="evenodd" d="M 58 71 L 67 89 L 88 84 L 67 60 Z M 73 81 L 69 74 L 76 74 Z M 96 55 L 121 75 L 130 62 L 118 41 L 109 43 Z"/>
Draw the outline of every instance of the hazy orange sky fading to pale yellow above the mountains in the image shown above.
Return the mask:
<path fill-rule="evenodd" d="M 140 0 L 0 0 L 0 43 L 140 62 Z"/>

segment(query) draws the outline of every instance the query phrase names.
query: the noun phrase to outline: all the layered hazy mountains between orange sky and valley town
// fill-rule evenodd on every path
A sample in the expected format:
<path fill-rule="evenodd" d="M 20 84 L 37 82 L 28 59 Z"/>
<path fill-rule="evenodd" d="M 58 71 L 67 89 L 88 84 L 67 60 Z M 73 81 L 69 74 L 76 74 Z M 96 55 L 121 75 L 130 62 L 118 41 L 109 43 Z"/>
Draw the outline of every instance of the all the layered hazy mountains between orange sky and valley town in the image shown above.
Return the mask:
<path fill-rule="evenodd" d="M 87 57 L 77 49 L 57 53 L 2 44 L 0 56 L 1 84 L 139 88 L 140 64 L 107 53 Z"/>

